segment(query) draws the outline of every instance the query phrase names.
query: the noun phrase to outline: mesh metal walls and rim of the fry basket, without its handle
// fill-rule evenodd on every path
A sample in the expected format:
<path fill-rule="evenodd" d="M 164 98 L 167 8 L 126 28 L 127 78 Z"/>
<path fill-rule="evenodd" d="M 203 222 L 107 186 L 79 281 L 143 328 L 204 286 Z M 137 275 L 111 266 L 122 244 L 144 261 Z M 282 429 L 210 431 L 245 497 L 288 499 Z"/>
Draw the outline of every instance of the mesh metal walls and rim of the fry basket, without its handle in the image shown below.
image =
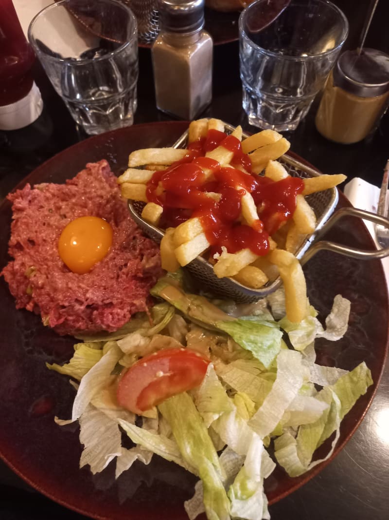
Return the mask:
<path fill-rule="evenodd" d="M 234 127 L 225 123 L 226 132 L 229 134 L 233 132 Z M 243 134 L 243 138 L 248 137 Z M 185 132 L 173 145 L 174 148 L 185 148 L 188 141 L 188 132 Z M 318 172 L 306 166 L 305 164 L 283 155 L 279 161 L 284 165 L 289 175 L 293 177 L 317 177 Z M 324 226 L 330 215 L 334 212 L 338 202 L 338 191 L 336 188 L 312 193 L 307 197 L 307 201 L 315 212 L 317 223 L 316 229 L 312 235 L 308 236 L 301 244 L 296 252 L 296 257 L 301 259 L 304 253 L 309 249 L 314 242 L 317 233 Z M 147 223 L 142 217 L 141 213 L 144 207 L 143 202 L 128 201 L 130 213 L 137 223 L 137 225 L 148 235 L 152 240 L 160 242 L 164 232 L 151 224 Z M 198 256 L 195 260 L 186 266 L 191 274 L 197 278 L 204 288 L 211 291 L 213 294 L 221 297 L 233 298 L 233 300 L 241 303 L 252 303 L 260 298 L 267 296 L 274 292 L 281 285 L 281 279 L 277 278 L 275 281 L 269 281 L 261 289 L 251 289 L 245 287 L 241 283 L 232 278 L 217 278 L 214 274 L 212 265 L 205 260 L 205 258 Z"/>

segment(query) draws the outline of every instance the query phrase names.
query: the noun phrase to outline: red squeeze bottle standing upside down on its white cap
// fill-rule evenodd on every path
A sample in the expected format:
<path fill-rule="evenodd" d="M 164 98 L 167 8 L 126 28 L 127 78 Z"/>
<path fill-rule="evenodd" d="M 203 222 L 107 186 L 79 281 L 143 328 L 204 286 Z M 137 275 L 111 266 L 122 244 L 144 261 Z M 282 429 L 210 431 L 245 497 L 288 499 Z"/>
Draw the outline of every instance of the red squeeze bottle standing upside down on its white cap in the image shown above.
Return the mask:
<path fill-rule="evenodd" d="M 31 71 L 34 61 L 12 0 L 0 0 L 0 130 L 27 126 L 43 109 Z"/>

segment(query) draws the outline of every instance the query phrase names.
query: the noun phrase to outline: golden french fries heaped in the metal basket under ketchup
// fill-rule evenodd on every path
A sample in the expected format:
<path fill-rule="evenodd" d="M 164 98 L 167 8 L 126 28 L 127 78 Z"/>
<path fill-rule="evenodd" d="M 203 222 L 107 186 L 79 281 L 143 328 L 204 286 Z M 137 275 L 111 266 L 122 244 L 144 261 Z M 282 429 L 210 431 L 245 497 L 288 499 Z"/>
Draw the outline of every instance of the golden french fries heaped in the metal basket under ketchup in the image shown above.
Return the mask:
<path fill-rule="evenodd" d="M 202 119 L 191 122 L 188 141 L 193 142 L 206 137 L 210 129 L 224 132 L 224 123 L 218 119 Z M 242 140 L 242 128 L 238 126 L 231 135 Z M 289 142 L 281 134 L 272 130 L 258 132 L 242 141 L 242 151 L 249 154 L 253 172 L 259 173 L 265 170 L 264 176 L 274 182 L 289 176 L 284 165 L 277 161 L 289 149 L 289 146 Z M 186 154 L 186 149 L 174 148 L 149 148 L 137 150 L 130 154 L 129 168 L 118 178 L 118 183 L 121 185 L 123 197 L 146 202 L 142 217 L 147 222 L 158 225 L 163 208 L 158 204 L 147 201 L 146 184 L 156 171 L 165 169 L 172 163 L 182 160 Z M 245 170 L 244 166 L 239 164 L 232 166 L 230 164 L 234 152 L 223 146 L 218 146 L 207 152 L 205 157 L 213 159 L 215 164 L 210 164 L 211 167 L 202 167 L 204 177 L 201 177 L 201 182 L 211 181 L 213 183 L 215 181 L 217 186 L 220 182 L 217 172 L 219 165 L 239 169 L 245 174 L 251 175 Z M 201 163 L 201 161 L 199 162 Z M 206 161 L 204 162 L 206 163 Z M 138 169 L 138 166 L 143 166 L 143 169 Z M 215 275 L 218 278 L 232 277 L 245 287 L 253 289 L 259 289 L 269 280 L 273 281 L 281 277 L 285 287 L 287 317 L 293 322 L 301 321 L 308 313 L 307 290 L 301 265 L 293 253 L 299 249 L 307 235 L 310 235 L 316 226 L 315 213 L 304 196 L 333 188 L 344 179 L 345 176 L 341 174 L 303 179 L 304 190 L 302 194 L 297 196 L 297 205 L 293 217 L 282 222 L 280 228 L 269 237 L 269 252 L 264 256 L 258 256 L 248 248 L 237 253 L 229 253 L 226 248 L 222 248 L 223 252 L 220 255 L 210 258 L 210 263 L 214 265 Z M 210 189 L 211 186 L 212 184 L 209 183 L 205 189 Z M 243 189 L 238 185 L 235 188 Z M 164 191 L 165 188 L 160 181 L 156 188 L 156 195 L 163 199 Z M 204 191 L 203 194 L 215 201 L 221 198 L 221 194 L 216 191 Z M 261 207 L 258 206 L 257 208 L 252 194 L 248 191 L 244 192 L 240 201 L 241 214 L 235 224 L 247 224 L 257 229 Z M 279 225 L 280 215 L 277 214 L 277 211 L 275 208 L 274 215 L 273 213 L 270 216 L 267 215 L 268 229 L 272 228 L 271 218 L 273 217 L 277 226 Z M 282 211 L 282 209 L 279 211 Z M 209 247 L 210 242 L 207 240 L 200 218 L 189 218 L 176 228 L 169 228 L 165 231 L 161 241 L 162 267 L 168 271 L 175 271 L 179 266 L 190 263 Z"/>

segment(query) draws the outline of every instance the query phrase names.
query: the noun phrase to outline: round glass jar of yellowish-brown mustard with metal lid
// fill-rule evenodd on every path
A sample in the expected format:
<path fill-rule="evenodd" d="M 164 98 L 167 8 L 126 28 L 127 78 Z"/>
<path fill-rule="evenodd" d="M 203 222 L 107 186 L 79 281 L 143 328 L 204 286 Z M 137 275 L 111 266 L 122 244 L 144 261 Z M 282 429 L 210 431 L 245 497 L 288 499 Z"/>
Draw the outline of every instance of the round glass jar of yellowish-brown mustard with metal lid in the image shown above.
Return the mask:
<path fill-rule="evenodd" d="M 316 114 L 327 139 L 351 144 L 377 125 L 389 101 L 389 56 L 379 50 L 346 50 L 328 77 Z"/>

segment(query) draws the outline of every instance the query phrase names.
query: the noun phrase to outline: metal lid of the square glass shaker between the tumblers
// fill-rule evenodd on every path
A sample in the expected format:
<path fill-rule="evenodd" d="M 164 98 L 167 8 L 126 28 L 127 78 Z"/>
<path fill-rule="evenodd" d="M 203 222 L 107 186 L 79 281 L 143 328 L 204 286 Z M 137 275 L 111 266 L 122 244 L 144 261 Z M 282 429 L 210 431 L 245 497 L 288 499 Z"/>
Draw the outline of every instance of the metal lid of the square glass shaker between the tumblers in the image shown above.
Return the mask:
<path fill-rule="evenodd" d="M 204 27 L 204 0 L 159 0 L 163 31 L 188 34 Z"/>

